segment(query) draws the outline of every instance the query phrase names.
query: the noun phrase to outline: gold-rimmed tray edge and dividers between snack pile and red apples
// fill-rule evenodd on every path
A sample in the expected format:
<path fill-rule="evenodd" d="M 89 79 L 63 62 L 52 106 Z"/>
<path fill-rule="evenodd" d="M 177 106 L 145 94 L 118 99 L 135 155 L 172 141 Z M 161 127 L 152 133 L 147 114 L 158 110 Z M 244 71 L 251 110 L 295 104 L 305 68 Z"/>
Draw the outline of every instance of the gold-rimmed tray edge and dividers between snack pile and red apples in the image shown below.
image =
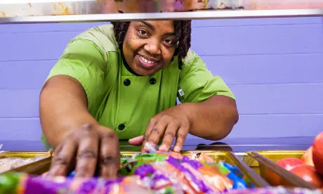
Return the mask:
<path fill-rule="evenodd" d="M 305 150 L 259 150 L 247 152 L 244 162 L 260 174 L 263 179 L 268 181 L 272 186 L 280 185 L 291 187 L 302 187 L 317 189 L 311 183 L 304 181 L 300 177 L 288 172 L 286 169 L 279 167 L 275 162 L 285 157 L 296 157 L 301 159 Z"/>

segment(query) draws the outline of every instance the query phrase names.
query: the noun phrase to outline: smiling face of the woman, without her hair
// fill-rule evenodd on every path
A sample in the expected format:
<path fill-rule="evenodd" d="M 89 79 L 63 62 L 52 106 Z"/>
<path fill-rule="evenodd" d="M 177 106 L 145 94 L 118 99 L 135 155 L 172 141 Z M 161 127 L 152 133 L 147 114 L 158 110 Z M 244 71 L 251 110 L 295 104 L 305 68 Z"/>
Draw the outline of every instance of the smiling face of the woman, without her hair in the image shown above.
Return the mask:
<path fill-rule="evenodd" d="M 141 21 L 130 22 L 122 49 L 134 72 L 152 75 L 171 63 L 176 45 L 173 21 Z"/>

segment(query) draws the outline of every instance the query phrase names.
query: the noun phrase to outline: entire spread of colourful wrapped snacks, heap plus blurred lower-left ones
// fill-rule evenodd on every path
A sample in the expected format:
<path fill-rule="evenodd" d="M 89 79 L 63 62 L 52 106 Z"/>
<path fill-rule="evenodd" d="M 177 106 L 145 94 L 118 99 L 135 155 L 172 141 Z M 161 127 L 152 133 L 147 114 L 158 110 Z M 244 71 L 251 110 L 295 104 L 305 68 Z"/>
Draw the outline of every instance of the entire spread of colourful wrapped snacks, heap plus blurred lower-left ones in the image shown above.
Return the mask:
<path fill-rule="evenodd" d="M 4 174 L 0 176 L 0 194 L 253 192 L 246 190 L 248 186 L 237 167 L 216 162 L 204 153 L 184 156 L 150 149 L 150 153 L 121 156 L 118 179 L 104 180 L 97 176 L 98 171 L 91 179 L 75 178 L 74 172 L 67 177 Z"/>

